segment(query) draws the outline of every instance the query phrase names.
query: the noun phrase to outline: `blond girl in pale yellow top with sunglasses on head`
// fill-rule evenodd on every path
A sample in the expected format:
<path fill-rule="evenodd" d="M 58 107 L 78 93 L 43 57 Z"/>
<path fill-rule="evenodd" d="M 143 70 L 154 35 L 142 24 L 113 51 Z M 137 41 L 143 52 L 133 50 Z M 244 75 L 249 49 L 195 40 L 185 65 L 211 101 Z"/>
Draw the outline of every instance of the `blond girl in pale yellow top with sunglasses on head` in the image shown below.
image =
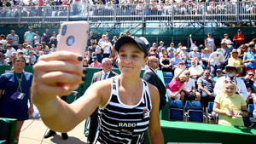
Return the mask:
<path fill-rule="evenodd" d="M 247 103 L 236 94 L 236 84 L 226 78 L 222 85 L 222 92 L 216 96 L 213 112 L 217 112 L 218 124 L 244 126 L 243 117 L 248 116 Z"/>

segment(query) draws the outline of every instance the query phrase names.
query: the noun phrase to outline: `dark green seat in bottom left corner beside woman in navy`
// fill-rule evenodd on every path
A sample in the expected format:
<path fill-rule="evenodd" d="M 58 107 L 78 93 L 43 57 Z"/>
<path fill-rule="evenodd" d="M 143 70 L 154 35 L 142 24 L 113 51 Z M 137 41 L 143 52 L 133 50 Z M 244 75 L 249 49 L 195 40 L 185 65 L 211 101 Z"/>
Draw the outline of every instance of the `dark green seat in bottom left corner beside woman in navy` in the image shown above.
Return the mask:
<path fill-rule="evenodd" d="M 15 144 L 16 119 L 0 118 L 0 144 Z"/>

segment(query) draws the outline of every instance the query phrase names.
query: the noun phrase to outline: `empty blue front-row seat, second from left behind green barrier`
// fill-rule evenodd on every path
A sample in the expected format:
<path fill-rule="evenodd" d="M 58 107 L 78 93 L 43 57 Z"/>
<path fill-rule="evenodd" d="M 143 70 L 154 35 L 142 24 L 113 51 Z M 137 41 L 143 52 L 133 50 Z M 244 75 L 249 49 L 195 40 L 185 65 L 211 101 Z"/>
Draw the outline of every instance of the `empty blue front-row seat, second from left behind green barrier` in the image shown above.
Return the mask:
<path fill-rule="evenodd" d="M 190 122 L 203 122 L 203 108 L 200 101 L 186 101 L 185 110 Z"/>

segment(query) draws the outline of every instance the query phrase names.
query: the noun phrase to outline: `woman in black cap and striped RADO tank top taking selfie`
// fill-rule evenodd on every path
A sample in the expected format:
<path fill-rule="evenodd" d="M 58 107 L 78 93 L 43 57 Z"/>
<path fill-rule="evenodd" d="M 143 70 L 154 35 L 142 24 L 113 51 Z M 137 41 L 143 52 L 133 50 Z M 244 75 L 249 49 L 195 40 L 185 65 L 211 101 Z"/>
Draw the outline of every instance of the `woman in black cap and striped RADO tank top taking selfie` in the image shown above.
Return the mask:
<path fill-rule="evenodd" d="M 160 95 L 153 85 L 140 78 L 141 68 L 148 60 L 146 44 L 138 37 L 121 37 L 115 49 L 121 74 L 90 85 L 70 105 L 57 95 L 69 95 L 82 83 L 83 59 L 72 52 L 40 57 L 34 66 L 32 99 L 44 124 L 52 130 L 67 132 L 99 107 L 95 143 L 142 143 L 144 131 L 148 130 L 150 143 L 163 144 Z M 141 126 L 137 127 L 137 123 Z"/>

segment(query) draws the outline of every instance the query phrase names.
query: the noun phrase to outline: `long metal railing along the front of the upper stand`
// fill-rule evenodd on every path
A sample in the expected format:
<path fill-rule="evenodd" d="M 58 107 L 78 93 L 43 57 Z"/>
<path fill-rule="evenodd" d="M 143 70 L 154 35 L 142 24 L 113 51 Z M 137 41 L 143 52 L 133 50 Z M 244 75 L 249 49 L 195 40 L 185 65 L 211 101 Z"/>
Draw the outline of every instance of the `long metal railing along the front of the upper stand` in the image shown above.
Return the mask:
<path fill-rule="evenodd" d="M 54 7 L 2 7 L 0 24 L 60 23 L 87 20 L 93 24 L 162 24 L 256 21 L 256 3 L 170 3 L 90 5 L 76 3 Z"/>

